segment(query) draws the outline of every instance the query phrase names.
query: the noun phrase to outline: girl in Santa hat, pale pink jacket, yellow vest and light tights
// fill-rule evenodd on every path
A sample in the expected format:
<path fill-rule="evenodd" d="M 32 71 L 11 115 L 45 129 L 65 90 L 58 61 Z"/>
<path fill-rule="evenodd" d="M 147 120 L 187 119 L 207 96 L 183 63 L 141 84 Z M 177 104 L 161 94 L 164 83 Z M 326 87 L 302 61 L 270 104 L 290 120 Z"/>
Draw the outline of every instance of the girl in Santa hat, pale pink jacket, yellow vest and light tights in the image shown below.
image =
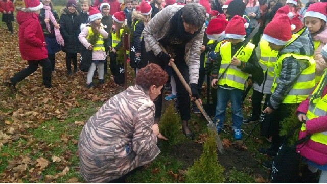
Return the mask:
<path fill-rule="evenodd" d="M 92 83 L 92 78 L 94 72 L 96 71 L 96 67 L 98 66 L 99 73 L 99 83 L 104 83 L 104 62 L 106 60 L 106 52 L 103 40 L 108 38 L 108 33 L 103 29 L 103 25 L 101 24 L 102 14 L 96 8 L 89 8 L 89 17 L 88 21 L 90 23 L 83 25 L 85 28 L 81 31 L 78 36 L 80 42 L 87 49 L 92 50 L 92 63 L 87 72 L 87 82 L 86 87 L 91 88 L 94 87 Z"/>

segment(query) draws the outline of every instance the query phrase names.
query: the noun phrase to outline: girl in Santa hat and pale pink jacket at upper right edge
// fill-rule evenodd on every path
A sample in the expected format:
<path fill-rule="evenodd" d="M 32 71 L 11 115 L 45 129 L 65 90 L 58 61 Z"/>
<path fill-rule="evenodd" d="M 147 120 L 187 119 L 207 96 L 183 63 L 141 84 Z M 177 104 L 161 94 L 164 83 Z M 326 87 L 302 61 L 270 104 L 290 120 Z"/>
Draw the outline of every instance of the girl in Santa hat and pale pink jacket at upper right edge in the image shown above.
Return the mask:
<path fill-rule="evenodd" d="M 305 25 L 309 28 L 315 47 L 316 83 L 320 81 L 323 70 L 327 68 L 326 62 L 320 54 L 322 47 L 327 43 L 326 8 L 327 3 L 317 2 L 311 4 L 304 16 Z"/>

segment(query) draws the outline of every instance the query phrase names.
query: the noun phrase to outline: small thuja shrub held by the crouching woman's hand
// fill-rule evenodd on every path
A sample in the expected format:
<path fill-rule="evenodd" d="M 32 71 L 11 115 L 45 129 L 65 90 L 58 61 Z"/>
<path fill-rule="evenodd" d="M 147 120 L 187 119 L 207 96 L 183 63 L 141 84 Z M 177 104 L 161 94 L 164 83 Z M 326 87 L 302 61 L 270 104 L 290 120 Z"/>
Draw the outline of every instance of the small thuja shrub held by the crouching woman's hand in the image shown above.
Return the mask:
<path fill-rule="evenodd" d="M 170 147 L 185 140 L 183 134 L 180 131 L 179 118 L 178 115 L 174 112 L 173 103 L 169 104 L 165 114 L 161 116 L 159 122 L 159 130 L 162 135 L 169 139 L 168 141 L 160 141 L 160 147 Z"/>

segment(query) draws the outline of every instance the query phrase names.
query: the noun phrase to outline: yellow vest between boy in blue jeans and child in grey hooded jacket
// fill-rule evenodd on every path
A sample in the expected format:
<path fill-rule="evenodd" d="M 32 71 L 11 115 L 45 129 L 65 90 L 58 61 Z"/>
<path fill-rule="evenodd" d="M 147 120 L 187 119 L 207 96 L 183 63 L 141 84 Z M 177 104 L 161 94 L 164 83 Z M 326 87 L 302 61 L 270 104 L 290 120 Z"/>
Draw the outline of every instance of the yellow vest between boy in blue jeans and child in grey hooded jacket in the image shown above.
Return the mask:
<path fill-rule="evenodd" d="M 274 69 L 277 61 L 278 52 L 272 50 L 268 46 L 269 42 L 267 40 L 260 40 L 260 52 L 261 56 L 259 59 L 259 65 L 264 71 L 265 81 L 259 86 L 257 83 L 253 83 L 253 89 L 259 92 L 263 92 L 264 94 L 271 93 L 271 86 L 274 81 Z"/>

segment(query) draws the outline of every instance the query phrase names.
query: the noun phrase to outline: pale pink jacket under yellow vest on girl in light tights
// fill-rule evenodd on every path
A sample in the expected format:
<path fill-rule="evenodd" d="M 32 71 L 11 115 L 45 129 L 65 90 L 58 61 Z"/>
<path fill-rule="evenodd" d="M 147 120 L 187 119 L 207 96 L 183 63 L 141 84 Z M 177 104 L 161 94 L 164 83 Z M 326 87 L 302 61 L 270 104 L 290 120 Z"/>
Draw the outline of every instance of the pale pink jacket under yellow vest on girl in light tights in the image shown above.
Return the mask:
<path fill-rule="evenodd" d="M 103 36 L 104 39 L 108 38 L 109 34 L 103 29 L 100 28 L 99 33 Z M 88 48 L 91 44 L 87 41 L 86 37 L 88 36 L 88 26 L 86 26 L 78 36 L 78 39 L 85 48 Z M 106 45 L 104 45 L 106 46 Z M 92 51 L 92 60 L 105 60 L 107 57 L 106 52 L 103 50 Z"/>

